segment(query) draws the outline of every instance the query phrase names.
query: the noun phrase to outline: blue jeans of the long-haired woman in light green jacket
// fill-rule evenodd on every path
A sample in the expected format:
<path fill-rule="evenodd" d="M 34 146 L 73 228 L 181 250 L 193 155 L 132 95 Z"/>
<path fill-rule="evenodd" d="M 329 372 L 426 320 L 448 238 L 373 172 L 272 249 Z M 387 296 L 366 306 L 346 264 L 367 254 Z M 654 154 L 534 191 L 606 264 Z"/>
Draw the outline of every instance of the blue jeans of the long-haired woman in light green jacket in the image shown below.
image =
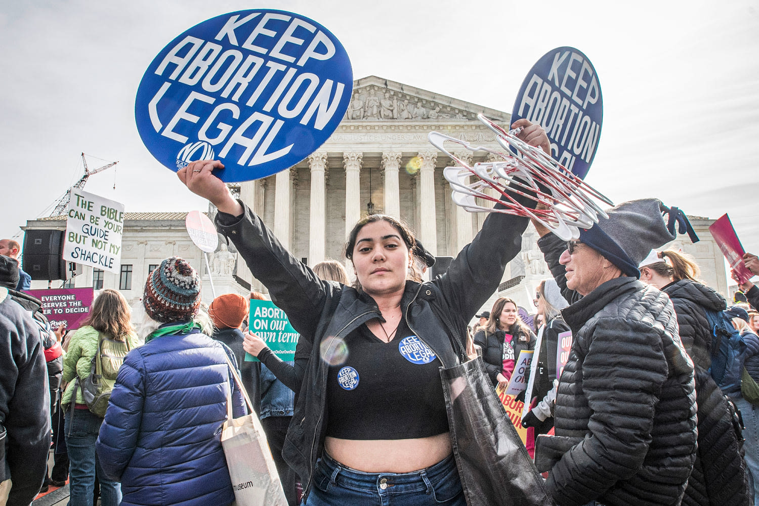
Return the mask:
<path fill-rule="evenodd" d="M 95 489 L 95 468 L 100 480 L 102 506 L 121 504 L 121 484 L 106 478 L 95 453 L 95 442 L 102 418 L 89 410 L 69 408 L 65 414 L 66 447 L 69 460 L 68 506 L 92 506 Z"/>

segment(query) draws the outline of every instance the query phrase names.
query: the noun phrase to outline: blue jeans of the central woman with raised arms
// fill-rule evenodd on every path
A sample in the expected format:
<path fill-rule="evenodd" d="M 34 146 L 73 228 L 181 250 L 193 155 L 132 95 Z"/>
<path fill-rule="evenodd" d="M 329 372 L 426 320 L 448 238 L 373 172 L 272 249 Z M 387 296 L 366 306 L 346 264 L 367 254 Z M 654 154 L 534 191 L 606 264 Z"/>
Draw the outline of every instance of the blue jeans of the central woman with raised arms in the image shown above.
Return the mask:
<path fill-rule="evenodd" d="M 413 473 L 363 473 L 326 452 L 313 473 L 306 506 L 466 506 L 453 455 Z"/>

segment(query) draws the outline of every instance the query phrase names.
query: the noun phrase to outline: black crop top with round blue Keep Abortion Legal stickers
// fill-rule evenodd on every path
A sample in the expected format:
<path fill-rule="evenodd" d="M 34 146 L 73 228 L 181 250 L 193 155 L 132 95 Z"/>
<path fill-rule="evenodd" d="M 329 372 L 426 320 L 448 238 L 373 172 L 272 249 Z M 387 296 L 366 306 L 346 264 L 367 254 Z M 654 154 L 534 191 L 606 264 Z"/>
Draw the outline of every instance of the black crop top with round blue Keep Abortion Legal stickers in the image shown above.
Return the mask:
<path fill-rule="evenodd" d="M 329 366 L 326 435 L 410 439 L 448 432 L 442 363 L 404 319 L 389 343 L 361 325 L 345 345 L 347 358 Z"/>

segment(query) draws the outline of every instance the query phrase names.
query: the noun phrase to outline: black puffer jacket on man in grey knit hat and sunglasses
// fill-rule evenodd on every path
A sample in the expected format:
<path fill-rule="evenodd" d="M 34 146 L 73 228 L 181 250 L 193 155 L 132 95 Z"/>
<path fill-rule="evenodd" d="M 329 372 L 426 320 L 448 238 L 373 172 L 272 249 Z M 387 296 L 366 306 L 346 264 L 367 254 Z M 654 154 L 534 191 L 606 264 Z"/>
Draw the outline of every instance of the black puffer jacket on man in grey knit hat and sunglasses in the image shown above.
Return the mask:
<path fill-rule="evenodd" d="M 696 452 L 694 372 L 669 297 L 635 278 L 586 297 L 566 288 L 552 234 L 538 244 L 572 303 L 574 341 L 556 398 L 546 486 L 557 504 L 678 506 Z M 549 457 L 551 458 L 551 457 Z"/>

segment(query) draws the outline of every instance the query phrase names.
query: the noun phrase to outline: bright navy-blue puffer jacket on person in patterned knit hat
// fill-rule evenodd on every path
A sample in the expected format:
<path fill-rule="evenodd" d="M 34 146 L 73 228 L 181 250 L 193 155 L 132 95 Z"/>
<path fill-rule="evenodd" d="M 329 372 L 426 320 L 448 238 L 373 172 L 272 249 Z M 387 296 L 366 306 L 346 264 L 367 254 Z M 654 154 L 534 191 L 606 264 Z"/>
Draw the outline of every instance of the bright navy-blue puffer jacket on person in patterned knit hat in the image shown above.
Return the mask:
<path fill-rule="evenodd" d="M 226 395 L 245 413 L 218 341 L 196 332 L 134 348 L 118 371 L 97 442 L 106 475 L 121 481 L 122 506 L 225 506 L 235 500 L 221 445 Z"/>

